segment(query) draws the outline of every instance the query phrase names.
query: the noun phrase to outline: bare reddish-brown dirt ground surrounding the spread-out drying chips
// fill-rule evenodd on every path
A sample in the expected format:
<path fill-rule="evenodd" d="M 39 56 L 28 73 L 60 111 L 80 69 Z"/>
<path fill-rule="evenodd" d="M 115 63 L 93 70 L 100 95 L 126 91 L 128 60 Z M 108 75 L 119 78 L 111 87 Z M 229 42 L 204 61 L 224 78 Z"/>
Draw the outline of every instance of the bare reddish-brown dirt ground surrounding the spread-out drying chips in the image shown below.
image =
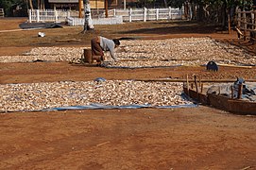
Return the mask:
<path fill-rule="evenodd" d="M 109 38 L 205 37 L 239 44 L 235 32 L 184 21 L 17 30 L 26 18 L 0 19 L 0 58 L 36 46 L 89 46 Z M 37 37 L 43 31 L 45 38 Z M 76 39 L 76 42 L 68 40 Z M 59 41 L 61 40 L 61 41 Z M 255 45 L 240 42 L 255 53 Z M 0 83 L 132 78 L 255 79 L 256 69 L 204 67 L 110 69 L 67 62 L 0 63 Z M 256 110 L 256 109 L 255 109 Z M 190 109 L 65 110 L 0 114 L 0 169 L 256 169 L 256 117 Z"/>

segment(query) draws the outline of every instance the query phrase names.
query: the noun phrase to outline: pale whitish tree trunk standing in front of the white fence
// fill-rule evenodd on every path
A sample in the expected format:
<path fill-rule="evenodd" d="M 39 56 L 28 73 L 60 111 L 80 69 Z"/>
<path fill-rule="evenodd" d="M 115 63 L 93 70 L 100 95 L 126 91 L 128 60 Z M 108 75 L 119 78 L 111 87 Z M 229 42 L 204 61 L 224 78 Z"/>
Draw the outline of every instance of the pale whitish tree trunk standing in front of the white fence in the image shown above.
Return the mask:
<path fill-rule="evenodd" d="M 89 0 L 83 0 L 83 8 L 84 8 L 84 26 L 83 26 L 82 33 L 85 33 L 88 30 L 94 29 Z"/>

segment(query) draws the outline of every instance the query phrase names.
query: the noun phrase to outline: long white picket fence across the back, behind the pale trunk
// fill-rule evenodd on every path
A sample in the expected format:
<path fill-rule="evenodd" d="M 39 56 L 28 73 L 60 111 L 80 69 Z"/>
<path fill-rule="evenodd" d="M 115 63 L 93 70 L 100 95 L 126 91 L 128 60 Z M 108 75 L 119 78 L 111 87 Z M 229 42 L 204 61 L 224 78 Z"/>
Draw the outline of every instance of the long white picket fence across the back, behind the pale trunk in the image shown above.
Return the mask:
<path fill-rule="evenodd" d="M 153 20 L 174 20 L 182 19 L 183 8 L 128 8 L 110 9 L 108 16 L 122 16 L 124 22 L 133 21 L 153 21 Z M 29 9 L 28 20 L 31 22 L 66 22 L 67 18 L 77 18 L 78 11 L 73 10 L 54 10 L 54 9 Z M 105 10 L 92 10 L 92 18 L 105 18 Z"/>

